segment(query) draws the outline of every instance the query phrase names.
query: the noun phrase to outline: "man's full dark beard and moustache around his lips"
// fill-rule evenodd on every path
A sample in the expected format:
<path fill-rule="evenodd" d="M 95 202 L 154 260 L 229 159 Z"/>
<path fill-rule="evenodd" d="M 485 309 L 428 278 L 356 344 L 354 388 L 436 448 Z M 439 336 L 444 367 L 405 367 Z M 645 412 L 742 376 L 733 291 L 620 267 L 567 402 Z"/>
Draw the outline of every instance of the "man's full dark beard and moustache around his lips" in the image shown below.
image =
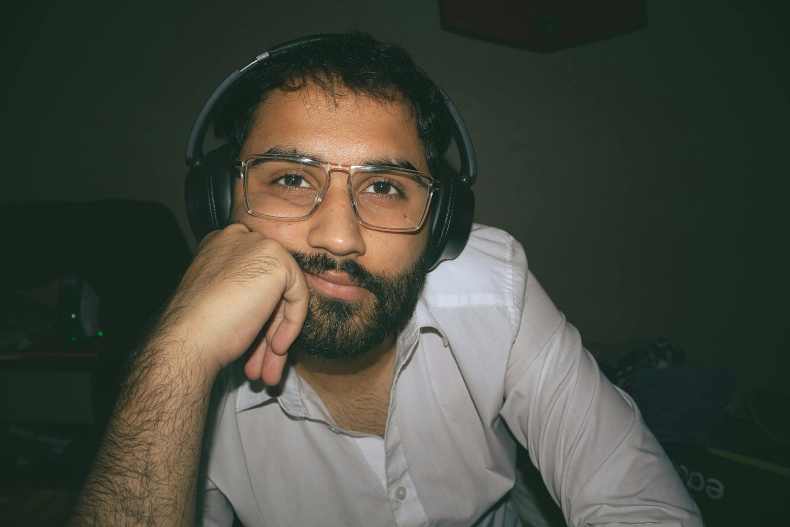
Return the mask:
<path fill-rule="evenodd" d="M 351 259 L 289 250 L 304 273 L 347 273 L 371 295 L 359 301 L 310 291 L 307 318 L 295 345 L 320 359 L 354 359 L 376 348 L 412 316 L 431 262 L 430 243 L 410 269 L 394 277 L 372 273 Z"/>

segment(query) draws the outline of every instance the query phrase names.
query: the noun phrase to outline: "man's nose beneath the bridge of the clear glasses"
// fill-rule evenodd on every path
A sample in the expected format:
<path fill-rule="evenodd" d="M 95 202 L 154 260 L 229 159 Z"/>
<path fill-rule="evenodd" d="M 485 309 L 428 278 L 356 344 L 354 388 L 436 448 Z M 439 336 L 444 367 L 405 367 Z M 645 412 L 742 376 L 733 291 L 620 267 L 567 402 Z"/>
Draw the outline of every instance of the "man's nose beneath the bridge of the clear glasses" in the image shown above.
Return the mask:
<path fill-rule="evenodd" d="M 356 220 L 351 198 L 348 196 L 347 178 L 348 172 L 330 172 L 329 188 L 326 189 L 321 205 L 307 220 L 310 222 L 308 245 L 338 257 L 365 253 L 363 227 Z"/>

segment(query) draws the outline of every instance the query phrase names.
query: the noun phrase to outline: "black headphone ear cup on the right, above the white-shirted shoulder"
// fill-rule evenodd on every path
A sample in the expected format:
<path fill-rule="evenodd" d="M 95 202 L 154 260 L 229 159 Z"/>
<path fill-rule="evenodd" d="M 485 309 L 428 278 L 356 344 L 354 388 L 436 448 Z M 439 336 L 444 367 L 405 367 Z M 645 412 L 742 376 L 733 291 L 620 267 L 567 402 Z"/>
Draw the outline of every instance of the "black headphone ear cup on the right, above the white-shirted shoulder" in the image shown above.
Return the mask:
<path fill-rule="evenodd" d="M 472 189 L 461 183 L 458 173 L 446 163 L 439 161 L 441 185 L 434 194 L 431 211 L 431 267 L 452 260 L 466 245 L 472 230 L 475 211 L 475 195 Z"/>

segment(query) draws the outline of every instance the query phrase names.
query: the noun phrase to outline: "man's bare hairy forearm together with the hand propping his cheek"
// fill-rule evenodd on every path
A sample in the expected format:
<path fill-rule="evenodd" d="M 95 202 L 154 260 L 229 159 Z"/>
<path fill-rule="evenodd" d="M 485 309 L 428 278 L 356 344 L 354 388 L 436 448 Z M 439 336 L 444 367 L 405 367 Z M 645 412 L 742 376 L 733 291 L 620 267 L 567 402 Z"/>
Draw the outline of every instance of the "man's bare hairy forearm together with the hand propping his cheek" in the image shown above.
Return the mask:
<path fill-rule="evenodd" d="M 250 351 L 247 375 L 280 382 L 309 299 L 280 243 L 240 224 L 207 235 L 130 367 L 69 525 L 193 525 L 216 375 Z"/>

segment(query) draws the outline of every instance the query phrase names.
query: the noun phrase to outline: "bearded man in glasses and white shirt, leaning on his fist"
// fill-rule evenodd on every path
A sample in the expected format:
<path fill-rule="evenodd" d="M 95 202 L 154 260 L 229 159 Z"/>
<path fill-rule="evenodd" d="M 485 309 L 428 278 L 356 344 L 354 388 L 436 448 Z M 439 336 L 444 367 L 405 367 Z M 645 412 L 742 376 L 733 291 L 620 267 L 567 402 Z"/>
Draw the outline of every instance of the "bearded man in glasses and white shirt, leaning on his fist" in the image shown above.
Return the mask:
<path fill-rule="evenodd" d="M 191 525 L 197 494 L 203 525 L 518 525 L 519 444 L 570 525 L 702 525 L 518 243 L 476 226 L 427 273 L 440 100 L 363 33 L 240 82 L 232 223 L 137 355 L 74 525 Z"/>

